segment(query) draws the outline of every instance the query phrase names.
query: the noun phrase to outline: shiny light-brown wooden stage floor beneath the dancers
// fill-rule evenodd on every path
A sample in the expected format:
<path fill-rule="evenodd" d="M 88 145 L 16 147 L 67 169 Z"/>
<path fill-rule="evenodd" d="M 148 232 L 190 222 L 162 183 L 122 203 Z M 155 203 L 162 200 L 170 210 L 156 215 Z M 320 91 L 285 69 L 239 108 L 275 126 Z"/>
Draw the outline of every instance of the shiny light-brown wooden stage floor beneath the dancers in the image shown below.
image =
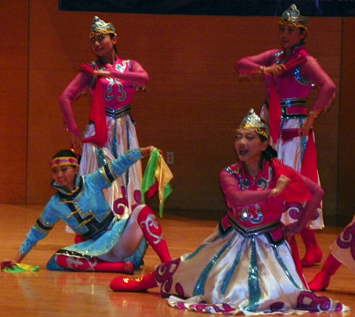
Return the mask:
<path fill-rule="evenodd" d="M 0 205 L 1 260 L 13 260 L 42 208 L 43 206 Z M 160 219 L 160 223 L 163 225 L 173 258 L 195 250 L 217 225 L 217 221 L 201 221 L 171 214 Z M 325 228 L 317 233 L 317 240 L 324 255 L 328 254 L 329 245 L 341 231 L 342 228 Z M 40 241 L 23 260 L 28 265 L 39 265 L 38 272 L 0 273 L 0 316 L 217 316 L 198 315 L 195 312 L 171 308 L 164 299 L 160 298 L 158 289 L 148 293 L 115 293 L 109 289 L 109 282 L 118 275 L 117 273 L 52 272 L 45 269 L 46 262 L 53 252 L 63 246 L 71 245 L 72 240 L 73 235 L 65 233 L 64 224 L 58 223 L 48 237 Z M 299 245 L 300 255 L 302 255 L 302 243 Z M 148 248 L 145 262 L 146 265 L 141 271 L 135 273 L 136 276 L 151 272 L 158 264 L 158 257 L 151 248 Z M 319 271 L 320 266 L 305 268 L 307 281 L 310 281 Z M 350 269 L 342 266 L 333 277 L 329 289 L 320 294 L 350 306 L 352 311 L 302 316 L 355 316 L 355 275 Z"/>

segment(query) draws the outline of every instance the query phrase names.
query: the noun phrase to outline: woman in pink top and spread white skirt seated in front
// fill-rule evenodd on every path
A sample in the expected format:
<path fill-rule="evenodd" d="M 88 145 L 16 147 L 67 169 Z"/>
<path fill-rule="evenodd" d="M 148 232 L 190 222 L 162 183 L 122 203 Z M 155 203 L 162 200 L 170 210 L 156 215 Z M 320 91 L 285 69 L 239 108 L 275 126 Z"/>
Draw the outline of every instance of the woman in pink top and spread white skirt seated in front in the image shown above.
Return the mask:
<path fill-rule="evenodd" d="M 201 313 L 348 311 L 309 291 L 297 274 L 285 237 L 307 225 L 324 192 L 283 166 L 268 140 L 268 126 L 251 109 L 236 130 L 239 162 L 220 173 L 228 210 L 214 233 L 195 252 L 163 263 L 151 274 L 116 277 L 111 289 L 158 286 L 171 306 Z M 305 204 L 298 209 L 299 221 L 282 227 L 285 201 Z"/>

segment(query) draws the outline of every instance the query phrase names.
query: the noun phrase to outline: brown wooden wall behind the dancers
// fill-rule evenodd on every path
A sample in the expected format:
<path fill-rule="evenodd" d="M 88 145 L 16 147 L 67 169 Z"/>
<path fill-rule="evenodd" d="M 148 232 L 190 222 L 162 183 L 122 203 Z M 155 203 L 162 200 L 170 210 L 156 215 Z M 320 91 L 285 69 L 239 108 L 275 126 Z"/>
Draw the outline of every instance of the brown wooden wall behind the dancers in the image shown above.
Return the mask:
<path fill-rule="evenodd" d="M 150 75 L 133 116 L 142 146 L 175 152 L 165 208 L 207 218 L 224 211 L 218 174 L 236 160 L 234 129 L 246 111 L 260 108 L 264 89 L 261 81 L 239 82 L 234 65 L 278 47 L 278 18 L 63 12 L 53 0 L 0 1 L 0 13 L 0 204 L 45 204 L 53 194 L 48 162 L 70 146 L 58 97 L 78 65 L 94 60 L 88 34 L 98 15 L 114 23 L 119 55 Z M 329 226 L 354 213 L 354 26 L 355 18 L 310 18 L 307 37 L 338 87 L 315 126 Z M 89 106 L 89 96 L 75 103 L 81 130 Z"/>

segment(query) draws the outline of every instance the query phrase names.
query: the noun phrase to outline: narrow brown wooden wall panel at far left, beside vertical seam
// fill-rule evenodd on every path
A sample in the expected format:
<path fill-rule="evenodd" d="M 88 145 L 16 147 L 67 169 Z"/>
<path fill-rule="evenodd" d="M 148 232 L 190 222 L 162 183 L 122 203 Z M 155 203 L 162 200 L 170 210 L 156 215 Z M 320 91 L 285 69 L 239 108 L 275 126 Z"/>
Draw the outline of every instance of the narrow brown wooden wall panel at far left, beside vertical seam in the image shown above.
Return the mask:
<path fill-rule="evenodd" d="M 0 203 L 25 204 L 28 1 L 0 1 L 0 13 Z"/>

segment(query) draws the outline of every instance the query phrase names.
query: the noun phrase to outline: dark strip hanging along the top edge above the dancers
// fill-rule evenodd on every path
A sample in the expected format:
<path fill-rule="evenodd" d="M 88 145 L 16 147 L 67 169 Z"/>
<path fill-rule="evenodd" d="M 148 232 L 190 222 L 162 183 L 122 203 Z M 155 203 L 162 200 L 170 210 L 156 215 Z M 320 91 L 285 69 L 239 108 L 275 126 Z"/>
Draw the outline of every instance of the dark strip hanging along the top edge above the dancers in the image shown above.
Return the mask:
<path fill-rule="evenodd" d="M 59 9 L 195 16 L 280 16 L 291 4 L 296 4 L 304 16 L 355 16 L 354 0 L 60 0 Z"/>

